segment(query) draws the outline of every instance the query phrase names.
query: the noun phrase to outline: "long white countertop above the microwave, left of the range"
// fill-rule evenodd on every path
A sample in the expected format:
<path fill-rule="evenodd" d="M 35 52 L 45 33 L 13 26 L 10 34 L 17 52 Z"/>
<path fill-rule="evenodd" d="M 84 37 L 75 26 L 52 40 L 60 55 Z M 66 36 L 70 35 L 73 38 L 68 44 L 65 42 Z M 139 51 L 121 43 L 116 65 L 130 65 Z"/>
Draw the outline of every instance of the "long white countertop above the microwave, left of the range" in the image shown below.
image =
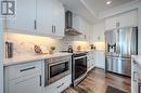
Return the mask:
<path fill-rule="evenodd" d="M 52 58 L 52 57 L 59 57 L 59 56 L 67 56 L 67 55 L 72 55 L 72 53 L 20 55 L 13 58 L 5 58 L 3 65 L 11 66 L 11 65 L 17 65 L 17 64 L 23 64 L 23 63 L 29 63 L 33 61 L 39 61 L 39 59 L 46 59 L 46 58 Z"/>

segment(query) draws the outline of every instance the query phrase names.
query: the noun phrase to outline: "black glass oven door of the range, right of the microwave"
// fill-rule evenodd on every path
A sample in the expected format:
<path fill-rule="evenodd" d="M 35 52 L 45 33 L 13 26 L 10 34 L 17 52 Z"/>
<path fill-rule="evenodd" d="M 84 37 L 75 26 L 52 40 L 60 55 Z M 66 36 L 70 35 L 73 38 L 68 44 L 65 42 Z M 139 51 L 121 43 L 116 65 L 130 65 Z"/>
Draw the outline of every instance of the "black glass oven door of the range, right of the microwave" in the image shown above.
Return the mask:
<path fill-rule="evenodd" d="M 82 75 L 87 72 L 87 55 L 86 56 L 80 56 L 80 57 L 75 57 L 74 61 L 74 67 L 75 67 L 75 77 L 74 79 L 80 78 Z"/>

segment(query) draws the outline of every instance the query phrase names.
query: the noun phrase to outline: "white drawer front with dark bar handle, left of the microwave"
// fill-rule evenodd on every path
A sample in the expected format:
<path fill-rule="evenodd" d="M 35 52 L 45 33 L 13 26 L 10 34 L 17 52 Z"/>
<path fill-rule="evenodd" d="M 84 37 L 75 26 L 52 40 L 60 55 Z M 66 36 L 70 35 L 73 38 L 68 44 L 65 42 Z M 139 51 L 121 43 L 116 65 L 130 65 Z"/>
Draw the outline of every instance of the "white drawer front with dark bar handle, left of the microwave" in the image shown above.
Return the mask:
<path fill-rule="evenodd" d="M 41 61 L 5 67 L 9 80 L 28 76 L 41 69 Z"/>

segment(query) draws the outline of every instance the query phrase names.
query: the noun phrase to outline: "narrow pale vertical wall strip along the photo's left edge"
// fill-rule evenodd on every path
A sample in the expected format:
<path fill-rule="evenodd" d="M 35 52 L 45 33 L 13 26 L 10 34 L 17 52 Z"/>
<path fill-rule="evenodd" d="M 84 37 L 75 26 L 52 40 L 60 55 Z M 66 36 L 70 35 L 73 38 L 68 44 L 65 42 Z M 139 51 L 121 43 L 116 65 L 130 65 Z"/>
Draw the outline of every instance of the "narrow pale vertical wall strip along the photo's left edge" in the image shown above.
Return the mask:
<path fill-rule="evenodd" d="M 0 21 L 0 93 L 3 93 L 3 30 Z"/>

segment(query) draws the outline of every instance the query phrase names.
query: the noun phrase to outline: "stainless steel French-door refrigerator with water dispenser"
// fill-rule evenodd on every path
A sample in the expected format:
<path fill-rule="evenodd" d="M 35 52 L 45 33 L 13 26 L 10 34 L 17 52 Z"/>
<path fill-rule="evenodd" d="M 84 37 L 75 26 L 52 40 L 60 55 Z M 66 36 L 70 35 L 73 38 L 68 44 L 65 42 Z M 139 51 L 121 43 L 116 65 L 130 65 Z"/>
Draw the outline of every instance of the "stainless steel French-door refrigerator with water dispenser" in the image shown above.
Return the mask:
<path fill-rule="evenodd" d="M 138 27 L 105 31 L 105 70 L 131 76 L 131 55 L 138 54 Z"/>

